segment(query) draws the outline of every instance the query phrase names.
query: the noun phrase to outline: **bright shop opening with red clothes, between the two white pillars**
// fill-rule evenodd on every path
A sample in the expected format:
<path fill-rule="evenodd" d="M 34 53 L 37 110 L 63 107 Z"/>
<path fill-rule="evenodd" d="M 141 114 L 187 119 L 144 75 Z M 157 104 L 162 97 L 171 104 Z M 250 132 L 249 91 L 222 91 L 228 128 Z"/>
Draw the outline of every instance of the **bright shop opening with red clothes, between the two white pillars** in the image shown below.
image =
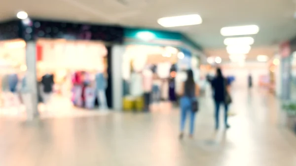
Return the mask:
<path fill-rule="evenodd" d="M 37 40 L 39 111 L 107 110 L 107 54 L 101 42 Z"/>

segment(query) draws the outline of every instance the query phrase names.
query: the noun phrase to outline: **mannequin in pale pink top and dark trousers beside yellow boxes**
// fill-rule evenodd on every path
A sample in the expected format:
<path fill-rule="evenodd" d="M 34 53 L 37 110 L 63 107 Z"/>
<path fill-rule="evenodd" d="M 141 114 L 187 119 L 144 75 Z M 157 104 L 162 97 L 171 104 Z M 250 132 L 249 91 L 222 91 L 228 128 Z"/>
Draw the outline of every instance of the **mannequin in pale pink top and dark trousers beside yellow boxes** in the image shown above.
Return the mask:
<path fill-rule="evenodd" d="M 148 67 L 143 71 L 143 89 L 144 89 L 144 99 L 145 99 L 145 111 L 149 111 L 149 104 L 152 91 L 152 78 L 153 73 Z"/>

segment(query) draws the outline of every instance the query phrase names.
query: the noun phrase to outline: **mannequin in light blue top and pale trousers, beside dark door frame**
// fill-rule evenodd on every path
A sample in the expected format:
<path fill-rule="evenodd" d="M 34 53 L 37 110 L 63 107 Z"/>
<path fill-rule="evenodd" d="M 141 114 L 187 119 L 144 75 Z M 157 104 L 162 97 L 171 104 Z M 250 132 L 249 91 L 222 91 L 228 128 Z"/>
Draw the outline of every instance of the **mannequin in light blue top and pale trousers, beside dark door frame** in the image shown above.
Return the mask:
<path fill-rule="evenodd" d="M 107 79 L 104 75 L 103 67 L 99 68 L 95 76 L 97 97 L 99 101 L 100 109 L 107 109 L 107 98 L 106 98 L 106 89 L 107 89 Z"/>

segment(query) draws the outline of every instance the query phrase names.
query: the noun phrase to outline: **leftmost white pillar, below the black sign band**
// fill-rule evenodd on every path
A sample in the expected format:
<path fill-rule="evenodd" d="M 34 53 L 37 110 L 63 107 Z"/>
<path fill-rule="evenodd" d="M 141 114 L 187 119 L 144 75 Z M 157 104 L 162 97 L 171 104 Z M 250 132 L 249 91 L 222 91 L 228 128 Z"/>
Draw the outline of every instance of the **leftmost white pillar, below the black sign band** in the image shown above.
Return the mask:
<path fill-rule="evenodd" d="M 36 42 L 29 41 L 26 46 L 26 64 L 27 64 L 27 86 L 29 90 L 28 101 L 26 104 L 28 120 L 38 116 L 38 98 L 37 98 L 37 69 L 36 69 Z"/>

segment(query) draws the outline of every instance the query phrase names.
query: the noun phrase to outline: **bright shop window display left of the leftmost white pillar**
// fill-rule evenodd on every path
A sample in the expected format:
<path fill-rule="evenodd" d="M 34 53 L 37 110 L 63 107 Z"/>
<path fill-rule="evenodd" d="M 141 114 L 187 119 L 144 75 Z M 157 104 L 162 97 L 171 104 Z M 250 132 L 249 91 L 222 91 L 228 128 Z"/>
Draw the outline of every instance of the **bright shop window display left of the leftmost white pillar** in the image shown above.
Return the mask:
<path fill-rule="evenodd" d="M 26 88 L 26 42 L 20 39 L 0 42 L 0 114 L 28 111 Z M 28 115 L 30 115 L 28 113 Z"/>

